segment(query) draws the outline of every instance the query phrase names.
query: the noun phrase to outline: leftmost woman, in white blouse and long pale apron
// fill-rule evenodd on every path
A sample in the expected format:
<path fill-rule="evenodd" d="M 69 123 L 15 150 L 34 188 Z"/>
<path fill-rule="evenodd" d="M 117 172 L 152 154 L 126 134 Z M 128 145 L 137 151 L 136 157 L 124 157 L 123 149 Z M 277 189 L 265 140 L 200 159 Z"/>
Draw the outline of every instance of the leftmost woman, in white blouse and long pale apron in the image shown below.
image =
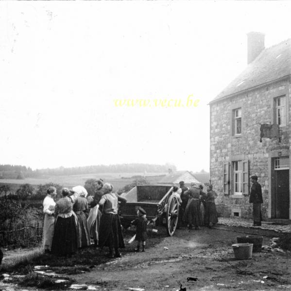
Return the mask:
<path fill-rule="evenodd" d="M 47 189 L 47 196 L 43 200 L 43 213 L 45 214 L 43 223 L 43 242 L 42 246 L 45 254 L 51 253 L 51 243 L 54 232 L 54 207 L 55 202 L 53 198 L 56 196 L 56 188 L 49 187 Z"/>

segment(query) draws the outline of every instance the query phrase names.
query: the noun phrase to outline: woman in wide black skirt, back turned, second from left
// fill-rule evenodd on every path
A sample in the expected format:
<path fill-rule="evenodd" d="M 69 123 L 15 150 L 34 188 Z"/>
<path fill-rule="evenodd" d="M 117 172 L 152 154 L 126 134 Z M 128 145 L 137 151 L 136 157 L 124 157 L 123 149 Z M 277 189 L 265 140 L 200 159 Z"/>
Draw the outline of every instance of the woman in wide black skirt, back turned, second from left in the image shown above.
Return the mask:
<path fill-rule="evenodd" d="M 63 198 L 55 205 L 56 214 L 54 234 L 51 245 L 51 253 L 57 256 L 70 256 L 74 254 L 79 246 L 78 243 L 78 219 L 73 211 L 73 205 L 78 196 L 64 188 Z"/>

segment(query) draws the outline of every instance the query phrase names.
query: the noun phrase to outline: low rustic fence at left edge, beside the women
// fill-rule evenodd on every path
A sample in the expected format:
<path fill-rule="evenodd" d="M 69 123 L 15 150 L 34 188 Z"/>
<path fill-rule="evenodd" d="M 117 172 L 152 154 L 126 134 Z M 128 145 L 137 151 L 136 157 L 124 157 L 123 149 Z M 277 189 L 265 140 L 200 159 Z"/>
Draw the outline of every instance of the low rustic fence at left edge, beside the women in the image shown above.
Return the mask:
<path fill-rule="evenodd" d="M 18 229 L 0 230 L 0 245 L 29 246 L 42 241 L 42 222 L 34 222 Z"/>

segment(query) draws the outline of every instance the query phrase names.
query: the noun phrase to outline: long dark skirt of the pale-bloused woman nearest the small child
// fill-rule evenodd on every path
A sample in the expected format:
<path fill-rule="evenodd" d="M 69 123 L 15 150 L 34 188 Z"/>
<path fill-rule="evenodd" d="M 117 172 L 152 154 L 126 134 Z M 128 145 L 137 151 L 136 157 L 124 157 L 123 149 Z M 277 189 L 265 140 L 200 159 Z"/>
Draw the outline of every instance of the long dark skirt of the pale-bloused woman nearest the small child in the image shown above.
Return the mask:
<path fill-rule="evenodd" d="M 102 214 L 99 229 L 99 246 L 124 247 L 118 214 Z"/>

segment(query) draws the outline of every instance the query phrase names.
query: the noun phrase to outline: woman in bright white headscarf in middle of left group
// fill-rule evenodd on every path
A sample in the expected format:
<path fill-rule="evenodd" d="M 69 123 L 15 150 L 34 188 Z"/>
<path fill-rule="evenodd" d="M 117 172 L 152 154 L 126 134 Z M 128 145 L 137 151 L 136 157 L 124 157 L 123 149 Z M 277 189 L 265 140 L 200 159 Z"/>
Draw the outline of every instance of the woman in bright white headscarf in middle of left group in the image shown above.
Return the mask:
<path fill-rule="evenodd" d="M 89 228 L 87 225 L 87 219 L 84 211 L 88 210 L 88 201 L 86 199 L 87 190 L 83 186 L 73 187 L 72 190 L 78 194 L 73 210 L 78 218 L 78 240 L 80 247 L 86 247 L 90 245 Z"/>

